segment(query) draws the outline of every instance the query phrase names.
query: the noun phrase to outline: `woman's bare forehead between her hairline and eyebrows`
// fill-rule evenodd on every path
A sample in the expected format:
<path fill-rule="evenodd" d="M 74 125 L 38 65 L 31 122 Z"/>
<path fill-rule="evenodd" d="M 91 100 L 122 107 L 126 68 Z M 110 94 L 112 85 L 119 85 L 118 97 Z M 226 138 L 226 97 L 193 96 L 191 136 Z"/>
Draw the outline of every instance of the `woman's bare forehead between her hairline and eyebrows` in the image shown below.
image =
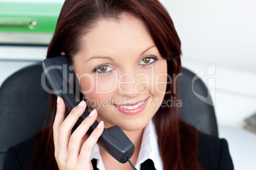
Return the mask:
<path fill-rule="evenodd" d="M 79 53 L 91 56 L 141 52 L 154 44 L 145 23 L 136 16 L 125 14 L 118 20 L 98 20 L 94 27 L 82 36 Z"/>

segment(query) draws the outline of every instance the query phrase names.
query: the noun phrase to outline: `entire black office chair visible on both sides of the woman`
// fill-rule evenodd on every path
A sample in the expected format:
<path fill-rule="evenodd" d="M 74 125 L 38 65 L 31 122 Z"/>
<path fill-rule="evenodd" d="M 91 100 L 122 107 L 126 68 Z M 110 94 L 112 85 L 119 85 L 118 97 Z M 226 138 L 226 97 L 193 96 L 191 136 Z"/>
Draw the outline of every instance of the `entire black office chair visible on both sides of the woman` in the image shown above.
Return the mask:
<path fill-rule="evenodd" d="M 0 88 L 0 170 L 10 146 L 31 138 L 43 127 L 49 94 L 41 86 L 41 63 L 25 67 L 11 75 Z M 183 119 L 202 131 L 218 136 L 213 106 L 194 95 L 192 79 L 195 74 L 183 68 L 178 89 Z M 207 96 L 208 89 L 201 79 L 194 81 L 194 91 Z"/>

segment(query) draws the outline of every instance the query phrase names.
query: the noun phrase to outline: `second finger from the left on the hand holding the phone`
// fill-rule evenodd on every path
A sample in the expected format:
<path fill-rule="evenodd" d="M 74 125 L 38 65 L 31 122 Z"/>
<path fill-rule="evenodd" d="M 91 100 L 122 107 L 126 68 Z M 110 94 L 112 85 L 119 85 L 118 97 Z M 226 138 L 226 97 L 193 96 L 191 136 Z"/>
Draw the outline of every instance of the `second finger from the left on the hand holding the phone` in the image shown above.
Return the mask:
<path fill-rule="evenodd" d="M 78 118 L 85 112 L 86 103 L 81 101 L 78 106 L 74 107 L 69 115 L 64 119 L 59 128 L 59 154 L 68 155 L 68 143 L 71 136 L 71 129 L 75 126 Z M 61 152 L 61 153 L 60 153 Z"/>

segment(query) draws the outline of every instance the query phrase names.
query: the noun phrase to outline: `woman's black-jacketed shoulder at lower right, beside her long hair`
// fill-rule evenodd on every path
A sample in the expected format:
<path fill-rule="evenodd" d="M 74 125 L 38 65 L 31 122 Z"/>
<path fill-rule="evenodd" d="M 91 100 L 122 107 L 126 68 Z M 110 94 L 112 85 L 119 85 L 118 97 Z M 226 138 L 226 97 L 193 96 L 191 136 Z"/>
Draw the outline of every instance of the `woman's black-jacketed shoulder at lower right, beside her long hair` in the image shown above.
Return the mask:
<path fill-rule="evenodd" d="M 203 169 L 234 169 L 225 139 L 198 132 L 198 152 Z"/>

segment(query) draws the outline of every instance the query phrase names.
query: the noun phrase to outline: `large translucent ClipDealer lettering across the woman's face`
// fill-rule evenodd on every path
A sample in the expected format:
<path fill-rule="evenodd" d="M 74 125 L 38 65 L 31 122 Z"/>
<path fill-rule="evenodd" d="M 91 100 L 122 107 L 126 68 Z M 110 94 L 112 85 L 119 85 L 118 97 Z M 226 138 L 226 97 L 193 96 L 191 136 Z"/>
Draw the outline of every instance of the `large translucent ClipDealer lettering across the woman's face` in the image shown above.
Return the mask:
<path fill-rule="evenodd" d="M 133 93 L 136 93 L 138 95 L 143 95 L 145 93 L 149 93 L 149 91 L 150 93 L 157 92 L 157 93 L 166 95 L 169 93 L 176 93 L 176 91 L 166 91 L 166 89 L 163 89 L 160 87 L 163 87 L 165 84 L 166 85 L 174 84 L 175 86 L 176 78 L 181 75 L 181 74 L 178 74 L 178 75 L 173 74 L 172 76 L 174 77 L 174 79 L 172 79 L 172 76 L 167 73 L 160 73 L 159 75 L 155 75 L 153 74 L 154 73 L 153 67 L 150 73 L 141 72 L 138 74 L 124 73 L 124 74 L 118 75 L 117 71 L 113 70 L 113 72 L 111 73 L 113 74 L 113 77 L 110 80 L 113 83 L 111 84 L 110 87 L 108 87 L 107 90 L 104 89 L 103 91 L 101 91 L 100 87 L 105 86 L 104 84 L 101 84 L 99 82 L 101 80 L 101 75 L 96 74 L 94 77 L 92 76 L 92 74 L 89 74 L 89 73 L 74 74 L 72 68 L 73 67 L 68 67 L 67 65 L 63 65 L 63 66 L 52 65 L 46 68 L 43 74 L 41 75 L 41 84 L 43 89 L 47 93 L 58 95 L 60 93 L 64 93 L 64 91 L 66 92 L 71 91 L 73 87 L 79 87 L 80 85 L 79 82 L 81 82 L 81 79 L 87 79 L 88 80 L 87 85 L 89 85 L 89 88 L 87 90 L 80 89 L 80 92 L 83 94 L 89 94 L 89 93 L 92 93 L 92 91 L 96 91 L 98 95 L 104 95 L 104 94 L 109 94 L 115 91 L 115 89 L 118 89 L 118 91 L 120 91 L 120 93 L 124 95 L 131 95 Z M 48 79 L 50 84 L 53 81 L 56 82 L 53 79 L 57 79 L 59 83 L 63 84 L 63 87 L 61 88 L 64 88 L 66 90 L 61 90 L 61 89 L 51 90 L 50 88 L 48 88 L 48 86 L 46 86 L 47 74 L 48 76 L 49 74 L 54 75 L 52 76 L 52 79 L 50 79 L 50 81 Z M 57 75 L 59 75 L 59 77 Z M 74 84 L 75 77 L 78 82 L 76 84 Z M 62 82 L 60 82 L 61 79 L 62 79 Z M 123 81 L 123 79 L 125 79 L 125 81 Z M 129 81 L 127 81 L 128 79 Z M 127 86 L 132 86 L 132 88 L 129 88 L 129 90 L 127 90 L 127 88 L 124 88 Z"/>

